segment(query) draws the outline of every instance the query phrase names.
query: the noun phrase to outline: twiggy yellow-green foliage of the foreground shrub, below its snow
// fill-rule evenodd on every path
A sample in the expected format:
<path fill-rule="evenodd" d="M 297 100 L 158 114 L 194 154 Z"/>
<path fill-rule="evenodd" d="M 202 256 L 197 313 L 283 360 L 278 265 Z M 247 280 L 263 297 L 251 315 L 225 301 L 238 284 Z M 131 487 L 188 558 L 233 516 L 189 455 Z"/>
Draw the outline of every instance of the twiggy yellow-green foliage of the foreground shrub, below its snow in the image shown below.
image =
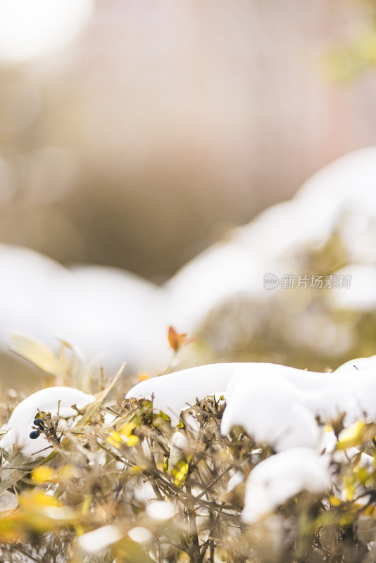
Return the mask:
<path fill-rule="evenodd" d="M 63 431 L 56 417 L 35 413 L 51 453 L 42 460 L 3 454 L 1 560 L 374 561 L 376 469 L 361 455 L 375 457 L 376 427 L 358 425 L 337 444 L 325 498 L 303 491 L 250 526 L 242 521 L 244 481 L 274 452 L 241 428 L 221 436 L 224 407 L 223 398 L 208 397 L 184 410 L 177 428 L 149 400 L 107 400 L 106 393 Z M 338 435 L 341 419 L 333 428 Z M 244 477 L 229 492 L 239 470 Z"/>

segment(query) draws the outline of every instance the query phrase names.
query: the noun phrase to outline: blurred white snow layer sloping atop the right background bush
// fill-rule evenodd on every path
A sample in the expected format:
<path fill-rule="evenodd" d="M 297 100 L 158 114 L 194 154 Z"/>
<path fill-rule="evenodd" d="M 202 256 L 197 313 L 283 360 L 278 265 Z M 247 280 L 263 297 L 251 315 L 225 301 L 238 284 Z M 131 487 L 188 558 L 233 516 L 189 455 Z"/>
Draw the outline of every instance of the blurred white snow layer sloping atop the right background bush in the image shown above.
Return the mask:
<path fill-rule="evenodd" d="M 350 261 L 375 264 L 375 185 L 376 147 L 349 153 L 308 179 L 291 201 L 273 205 L 191 260 L 165 284 L 184 330 L 194 331 L 234 296 L 268 300 L 265 272 L 294 273 L 295 257 L 322 248 L 331 234 L 344 240 Z"/>

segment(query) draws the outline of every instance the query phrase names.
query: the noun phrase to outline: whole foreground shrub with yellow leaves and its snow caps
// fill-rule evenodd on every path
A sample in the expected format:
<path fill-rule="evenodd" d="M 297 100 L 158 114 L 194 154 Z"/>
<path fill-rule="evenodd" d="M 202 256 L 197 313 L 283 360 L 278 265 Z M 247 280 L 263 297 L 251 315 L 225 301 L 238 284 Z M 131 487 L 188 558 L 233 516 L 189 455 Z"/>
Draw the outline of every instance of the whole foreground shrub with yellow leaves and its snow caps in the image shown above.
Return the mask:
<path fill-rule="evenodd" d="M 374 364 L 37 391 L 3 429 L 1 561 L 371 562 Z"/>

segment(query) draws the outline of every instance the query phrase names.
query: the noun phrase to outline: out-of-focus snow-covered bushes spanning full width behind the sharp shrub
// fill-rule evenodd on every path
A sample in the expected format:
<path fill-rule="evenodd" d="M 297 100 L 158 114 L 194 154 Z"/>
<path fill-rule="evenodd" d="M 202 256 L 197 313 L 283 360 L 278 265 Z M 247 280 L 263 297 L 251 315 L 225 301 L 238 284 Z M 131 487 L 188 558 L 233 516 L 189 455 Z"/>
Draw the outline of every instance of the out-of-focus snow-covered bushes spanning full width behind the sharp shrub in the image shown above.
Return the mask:
<path fill-rule="evenodd" d="M 320 170 L 291 201 L 232 230 L 162 287 L 1 245 L 0 348 L 13 332 L 50 345 L 63 339 L 108 367 L 125 360 L 158 372 L 170 361 L 173 324 L 199 334 L 212 358 L 322 369 L 375 350 L 375 240 L 371 147 Z M 270 291 L 265 274 L 277 281 Z M 339 287 L 341 275 L 347 286 Z"/>

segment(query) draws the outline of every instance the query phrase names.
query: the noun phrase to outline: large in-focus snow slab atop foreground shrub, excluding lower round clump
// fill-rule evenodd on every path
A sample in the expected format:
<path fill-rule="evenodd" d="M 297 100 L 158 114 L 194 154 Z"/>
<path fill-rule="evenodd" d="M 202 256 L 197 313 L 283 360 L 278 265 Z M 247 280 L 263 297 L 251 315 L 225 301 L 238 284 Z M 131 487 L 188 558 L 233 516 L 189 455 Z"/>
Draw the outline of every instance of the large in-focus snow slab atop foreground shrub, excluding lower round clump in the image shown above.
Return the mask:
<path fill-rule="evenodd" d="M 354 360 L 355 361 L 355 360 Z M 376 372 L 372 359 L 320 374 L 263 363 L 210 364 L 142 381 L 126 398 L 153 396 L 153 407 L 173 425 L 189 405 L 222 390 L 226 407 L 221 431 L 243 426 L 256 441 L 281 451 L 315 448 L 322 439 L 315 418 L 331 422 L 346 412 L 346 424 L 376 418 Z M 363 367 L 365 366 L 365 367 Z"/>

